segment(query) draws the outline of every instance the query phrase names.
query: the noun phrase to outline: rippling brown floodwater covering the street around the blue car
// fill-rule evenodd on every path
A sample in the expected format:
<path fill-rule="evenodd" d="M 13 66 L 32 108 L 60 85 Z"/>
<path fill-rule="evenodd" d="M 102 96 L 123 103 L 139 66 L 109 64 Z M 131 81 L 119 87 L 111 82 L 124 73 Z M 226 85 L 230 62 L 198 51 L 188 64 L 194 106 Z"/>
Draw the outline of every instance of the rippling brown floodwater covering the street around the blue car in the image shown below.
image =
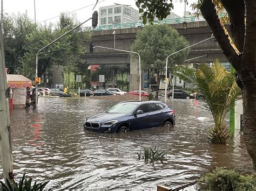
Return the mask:
<path fill-rule="evenodd" d="M 215 166 L 254 172 L 240 136 L 227 145 L 207 143 L 212 117 L 196 100 L 169 102 L 177 117 L 177 124 L 171 128 L 126 134 L 83 130 L 86 117 L 116 103 L 40 97 L 36 111 L 14 109 L 11 135 L 17 180 L 26 173 L 39 182 L 50 180 L 47 189 L 156 190 L 157 185 L 186 185 Z M 145 164 L 137 155 L 142 146 L 168 147 L 167 160 Z"/>

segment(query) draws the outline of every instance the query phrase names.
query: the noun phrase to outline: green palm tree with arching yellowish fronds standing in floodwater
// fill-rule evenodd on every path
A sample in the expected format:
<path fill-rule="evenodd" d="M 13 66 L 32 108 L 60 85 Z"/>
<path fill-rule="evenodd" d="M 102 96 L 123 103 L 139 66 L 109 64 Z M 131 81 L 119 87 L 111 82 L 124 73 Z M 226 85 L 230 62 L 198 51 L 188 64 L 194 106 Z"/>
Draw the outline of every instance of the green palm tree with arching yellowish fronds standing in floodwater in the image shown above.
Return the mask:
<path fill-rule="evenodd" d="M 227 72 L 218 59 L 212 67 L 205 64 L 201 64 L 199 69 L 177 66 L 173 71 L 175 76 L 191 83 L 204 96 L 203 106 L 212 114 L 215 124 L 208 130 L 208 140 L 211 143 L 226 143 L 230 133 L 224 118 L 241 94 L 234 72 Z"/>

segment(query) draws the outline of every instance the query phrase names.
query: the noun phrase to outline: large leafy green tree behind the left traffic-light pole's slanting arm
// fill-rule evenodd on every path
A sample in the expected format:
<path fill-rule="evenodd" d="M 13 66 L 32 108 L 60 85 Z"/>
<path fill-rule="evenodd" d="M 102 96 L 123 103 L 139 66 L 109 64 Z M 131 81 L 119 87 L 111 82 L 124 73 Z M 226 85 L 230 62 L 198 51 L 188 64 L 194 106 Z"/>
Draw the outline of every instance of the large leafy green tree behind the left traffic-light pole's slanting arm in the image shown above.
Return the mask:
<path fill-rule="evenodd" d="M 36 53 L 39 49 L 51 43 L 77 25 L 75 19 L 62 14 L 60 22 L 55 30 L 53 26 L 42 26 L 27 37 L 25 44 L 26 53 L 21 59 L 22 72 L 29 76 L 35 73 Z M 38 56 L 38 76 L 41 76 L 52 65 L 64 66 L 66 71 L 75 72 L 77 65 L 81 62 L 80 56 L 84 54 L 86 43 L 90 40 L 90 32 L 77 31 L 59 39 L 50 47 L 44 49 Z"/>

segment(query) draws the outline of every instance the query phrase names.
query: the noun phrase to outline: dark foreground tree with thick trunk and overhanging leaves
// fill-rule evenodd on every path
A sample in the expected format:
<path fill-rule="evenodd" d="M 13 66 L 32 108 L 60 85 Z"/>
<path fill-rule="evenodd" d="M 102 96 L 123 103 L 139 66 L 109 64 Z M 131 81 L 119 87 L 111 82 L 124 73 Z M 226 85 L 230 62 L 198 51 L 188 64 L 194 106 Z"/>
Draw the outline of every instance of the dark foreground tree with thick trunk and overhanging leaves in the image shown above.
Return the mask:
<path fill-rule="evenodd" d="M 151 19 L 146 12 L 163 19 L 173 8 L 172 0 L 137 0 L 136 4 L 139 11 L 144 12 L 145 20 Z M 217 15 L 220 6 L 227 11 L 230 19 L 230 34 Z M 238 74 L 237 83 L 242 91 L 244 106 L 243 133 L 247 151 L 256 167 L 256 1 L 202 0 L 197 8 L 200 8 L 223 53 Z"/>

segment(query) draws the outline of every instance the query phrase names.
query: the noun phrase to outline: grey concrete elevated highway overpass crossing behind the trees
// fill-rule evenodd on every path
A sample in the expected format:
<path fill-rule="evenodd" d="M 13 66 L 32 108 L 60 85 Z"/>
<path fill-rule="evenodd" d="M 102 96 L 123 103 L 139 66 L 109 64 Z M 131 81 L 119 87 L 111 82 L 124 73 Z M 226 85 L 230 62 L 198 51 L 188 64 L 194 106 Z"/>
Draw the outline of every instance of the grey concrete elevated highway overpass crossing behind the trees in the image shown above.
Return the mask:
<path fill-rule="evenodd" d="M 190 45 L 196 44 L 199 41 L 205 40 L 212 36 L 211 29 L 205 20 L 186 23 L 174 23 L 170 24 L 173 29 L 183 35 Z M 103 46 L 113 48 L 114 35 L 113 31 L 116 31 L 116 48 L 130 51 L 130 47 L 136 39 L 136 33 L 142 30 L 143 27 L 129 27 L 125 29 L 110 29 L 110 30 L 95 30 L 92 34 L 93 46 Z M 172 52 L 170 52 L 171 54 Z M 188 62 L 201 63 L 213 62 L 215 58 L 218 58 L 220 62 L 228 62 L 225 55 L 222 53 L 218 42 L 214 39 L 210 39 L 196 45 L 191 48 L 190 54 L 187 59 L 196 58 L 201 55 L 208 54 L 208 56 L 198 59 L 193 59 Z M 89 47 L 83 58 L 89 65 L 120 65 L 130 64 L 130 88 L 137 89 L 138 82 L 136 78 L 138 76 L 138 59 L 130 58 L 128 53 L 113 51 L 104 48 L 95 48 L 93 53 L 89 52 Z M 187 62 L 187 63 L 188 63 Z"/>

